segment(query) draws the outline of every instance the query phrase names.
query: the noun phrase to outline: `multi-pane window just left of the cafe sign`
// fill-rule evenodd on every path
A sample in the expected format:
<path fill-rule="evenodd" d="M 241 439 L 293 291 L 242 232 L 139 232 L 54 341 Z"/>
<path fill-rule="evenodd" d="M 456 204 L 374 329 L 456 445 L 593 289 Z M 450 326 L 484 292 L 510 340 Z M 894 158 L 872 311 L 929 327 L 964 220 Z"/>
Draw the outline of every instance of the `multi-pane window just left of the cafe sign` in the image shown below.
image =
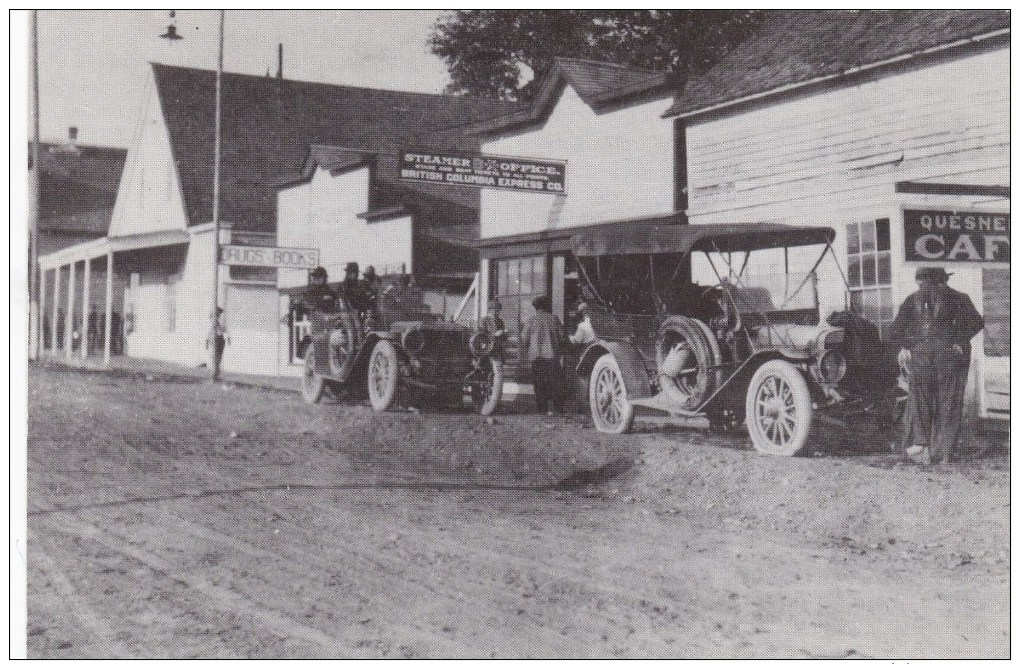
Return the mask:
<path fill-rule="evenodd" d="M 851 308 L 878 326 L 882 339 L 896 317 L 889 220 L 847 224 L 847 280 Z"/>

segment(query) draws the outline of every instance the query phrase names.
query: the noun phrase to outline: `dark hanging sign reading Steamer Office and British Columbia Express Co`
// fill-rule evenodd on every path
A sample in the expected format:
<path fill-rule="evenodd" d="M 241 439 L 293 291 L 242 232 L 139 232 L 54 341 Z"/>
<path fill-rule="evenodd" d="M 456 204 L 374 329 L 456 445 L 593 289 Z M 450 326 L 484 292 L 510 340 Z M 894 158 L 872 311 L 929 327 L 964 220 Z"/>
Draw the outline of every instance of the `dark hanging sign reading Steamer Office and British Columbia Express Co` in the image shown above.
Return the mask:
<path fill-rule="evenodd" d="M 566 193 L 566 163 L 492 155 L 402 152 L 400 178 L 437 185 Z"/>

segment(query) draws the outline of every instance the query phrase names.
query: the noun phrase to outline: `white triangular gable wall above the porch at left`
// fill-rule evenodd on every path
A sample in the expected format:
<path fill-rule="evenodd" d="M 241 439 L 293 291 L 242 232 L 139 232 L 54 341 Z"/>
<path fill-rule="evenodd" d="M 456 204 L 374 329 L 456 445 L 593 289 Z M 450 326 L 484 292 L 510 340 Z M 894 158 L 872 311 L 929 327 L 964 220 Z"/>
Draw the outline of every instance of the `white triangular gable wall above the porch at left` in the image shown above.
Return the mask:
<path fill-rule="evenodd" d="M 151 78 L 142 117 L 117 189 L 110 236 L 188 226 L 166 122 Z"/>

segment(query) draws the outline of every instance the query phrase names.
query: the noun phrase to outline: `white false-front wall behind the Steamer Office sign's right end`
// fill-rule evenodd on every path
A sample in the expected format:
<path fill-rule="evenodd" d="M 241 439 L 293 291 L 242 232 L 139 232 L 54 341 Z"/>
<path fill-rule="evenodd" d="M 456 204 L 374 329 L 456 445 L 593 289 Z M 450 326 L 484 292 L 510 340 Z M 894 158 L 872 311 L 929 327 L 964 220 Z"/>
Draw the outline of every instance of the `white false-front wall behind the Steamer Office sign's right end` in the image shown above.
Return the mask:
<path fill-rule="evenodd" d="M 565 197 L 481 191 L 481 237 L 575 226 L 673 210 L 670 99 L 597 114 L 567 86 L 544 126 L 490 141 L 488 154 L 567 162 Z"/>

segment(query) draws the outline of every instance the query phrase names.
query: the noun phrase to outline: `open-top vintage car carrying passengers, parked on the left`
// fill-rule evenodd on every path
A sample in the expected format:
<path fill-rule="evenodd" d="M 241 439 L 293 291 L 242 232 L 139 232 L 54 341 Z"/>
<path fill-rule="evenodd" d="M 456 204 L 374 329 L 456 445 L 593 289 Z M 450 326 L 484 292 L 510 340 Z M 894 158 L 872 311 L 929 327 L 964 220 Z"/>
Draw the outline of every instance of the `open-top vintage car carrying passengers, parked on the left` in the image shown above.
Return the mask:
<path fill-rule="evenodd" d="M 298 349 L 306 402 L 318 403 L 326 391 L 338 399 L 367 394 L 372 408 L 384 411 L 412 396 L 459 406 L 466 393 L 481 414 L 498 407 L 503 373 L 494 340 L 437 319 L 417 289 L 380 297 L 368 316 L 343 296 L 328 310 L 308 309 L 310 334 Z"/>

